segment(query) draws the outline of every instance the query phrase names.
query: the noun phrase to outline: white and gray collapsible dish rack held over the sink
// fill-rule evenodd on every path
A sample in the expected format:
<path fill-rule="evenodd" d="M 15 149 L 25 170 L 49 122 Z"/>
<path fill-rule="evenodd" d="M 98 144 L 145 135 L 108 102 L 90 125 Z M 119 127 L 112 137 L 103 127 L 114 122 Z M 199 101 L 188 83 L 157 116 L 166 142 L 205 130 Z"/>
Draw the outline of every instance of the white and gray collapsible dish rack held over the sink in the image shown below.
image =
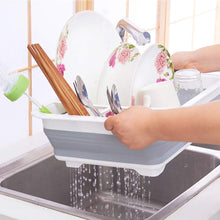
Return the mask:
<path fill-rule="evenodd" d="M 209 86 L 184 106 L 207 103 L 220 95 L 220 81 Z M 42 119 L 44 132 L 54 147 L 55 157 L 68 167 L 82 164 L 134 169 L 144 176 L 158 176 L 166 164 L 190 143 L 157 141 L 141 150 L 131 150 L 104 128 L 105 117 L 63 114 L 61 103 L 47 106 L 53 114 L 38 109 L 34 117 Z"/>

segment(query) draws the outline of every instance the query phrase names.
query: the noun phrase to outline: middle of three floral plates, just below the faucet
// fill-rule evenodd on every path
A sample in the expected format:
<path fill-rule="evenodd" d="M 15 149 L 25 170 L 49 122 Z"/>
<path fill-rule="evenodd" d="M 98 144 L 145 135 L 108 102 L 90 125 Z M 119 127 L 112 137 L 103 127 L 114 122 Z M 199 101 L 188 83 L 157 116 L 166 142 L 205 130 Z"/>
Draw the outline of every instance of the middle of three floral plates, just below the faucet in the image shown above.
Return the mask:
<path fill-rule="evenodd" d="M 134 73 L 140 60 L 138 49 L 129 43 L 121 43 L 109 56 L 104 64 L 100 77 L 97 103 L 108 104 L 106 88 L 115 84 L 121 105 L 131 105 Z"/>

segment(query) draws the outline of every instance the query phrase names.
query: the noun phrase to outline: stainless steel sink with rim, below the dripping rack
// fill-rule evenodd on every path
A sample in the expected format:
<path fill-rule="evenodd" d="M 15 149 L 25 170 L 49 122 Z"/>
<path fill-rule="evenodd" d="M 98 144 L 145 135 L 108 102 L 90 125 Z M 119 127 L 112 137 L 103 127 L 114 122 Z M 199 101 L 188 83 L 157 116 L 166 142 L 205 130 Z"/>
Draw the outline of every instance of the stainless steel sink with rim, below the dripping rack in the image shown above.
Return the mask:
<path fill-rule="evenodd" d="M 68 168 L 51 147 L 0 167 L 0 194 L 85 219 L 164 219 L 220 176 L 220 152 L 189 146 L 157 177 L 134 170 Z"/>

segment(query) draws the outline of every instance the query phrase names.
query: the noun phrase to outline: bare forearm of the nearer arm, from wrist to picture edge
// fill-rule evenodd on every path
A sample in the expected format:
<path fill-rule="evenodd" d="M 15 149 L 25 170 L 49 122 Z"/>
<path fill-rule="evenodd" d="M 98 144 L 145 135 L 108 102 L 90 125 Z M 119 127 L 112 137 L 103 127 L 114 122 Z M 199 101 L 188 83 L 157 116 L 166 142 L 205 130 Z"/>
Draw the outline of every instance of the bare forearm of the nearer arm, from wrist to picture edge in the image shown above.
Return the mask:
<path fill-rule="evenodd" d="M 220 144 L 220 101 L 155 111 L 158 140 Z"/>

